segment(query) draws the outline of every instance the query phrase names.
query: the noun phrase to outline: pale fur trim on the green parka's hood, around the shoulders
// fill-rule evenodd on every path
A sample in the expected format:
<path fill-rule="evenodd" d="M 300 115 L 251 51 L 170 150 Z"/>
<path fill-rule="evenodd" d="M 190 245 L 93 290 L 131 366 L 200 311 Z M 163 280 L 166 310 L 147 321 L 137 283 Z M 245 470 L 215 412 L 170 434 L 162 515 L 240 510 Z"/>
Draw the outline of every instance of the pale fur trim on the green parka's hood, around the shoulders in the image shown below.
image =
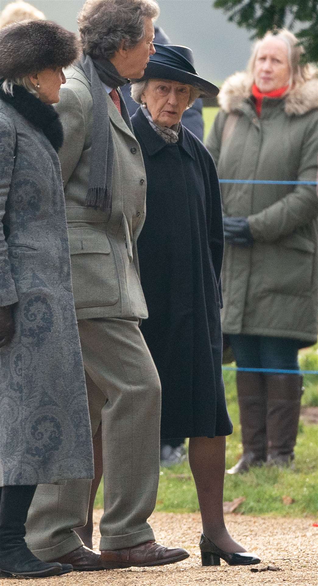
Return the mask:
<path fill-rule="evenodd" d="M 227 78 L 217 99 L 226 113 L 240 110 L 244 100 L 251 96 L 251 84 L 245 71 L 234 73 Z M 318 78 L 305 81 L 302 86 L 289 91 L 285 97 L 285 113 L 302 115 L 318 108 Z"/>

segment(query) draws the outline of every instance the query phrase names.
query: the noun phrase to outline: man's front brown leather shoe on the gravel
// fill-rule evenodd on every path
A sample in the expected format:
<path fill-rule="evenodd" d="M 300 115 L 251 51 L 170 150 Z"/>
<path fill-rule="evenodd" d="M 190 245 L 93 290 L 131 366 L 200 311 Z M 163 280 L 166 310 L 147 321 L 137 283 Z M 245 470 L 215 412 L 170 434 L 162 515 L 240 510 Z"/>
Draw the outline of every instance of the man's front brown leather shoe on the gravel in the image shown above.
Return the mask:
<path fill-rule="evenodd" d="M 181 548 L 168 548 L 155 541 L 146 541 L 134 547 L 101 552 L 103 567 L 107 570 L 130 568 L 132 565 L 144 568 L 149 565 L 175 564 L 189 557 L 188 551 Z"/>

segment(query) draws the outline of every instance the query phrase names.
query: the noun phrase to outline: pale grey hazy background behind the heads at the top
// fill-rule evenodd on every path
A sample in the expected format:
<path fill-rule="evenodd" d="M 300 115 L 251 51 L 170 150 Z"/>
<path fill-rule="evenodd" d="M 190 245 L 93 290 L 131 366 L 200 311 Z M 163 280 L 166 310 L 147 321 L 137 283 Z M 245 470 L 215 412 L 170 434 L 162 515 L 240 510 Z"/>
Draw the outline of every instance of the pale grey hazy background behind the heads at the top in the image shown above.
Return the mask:
<path fill-rule="evenodd" d="M 76 30 L 76 15 L 84 0 L 29 0 L 50 20 Z M 8 0 L 0 0 L 1 9 Z M 159 0 L 162 26 L 171 42 L 193 50 L 199 74 L 222 81 L 245 69 L 251 42 L 244 29 L 227 22 L 223 11 L 212 9 L 212 0 Z"/>

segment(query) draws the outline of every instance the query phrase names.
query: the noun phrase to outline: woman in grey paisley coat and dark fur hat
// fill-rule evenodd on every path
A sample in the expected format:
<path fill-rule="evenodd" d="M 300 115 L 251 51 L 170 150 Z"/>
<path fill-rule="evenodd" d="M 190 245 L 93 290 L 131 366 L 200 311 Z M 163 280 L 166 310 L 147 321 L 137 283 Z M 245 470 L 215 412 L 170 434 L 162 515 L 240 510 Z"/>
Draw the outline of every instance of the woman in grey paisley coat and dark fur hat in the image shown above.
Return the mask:
<path fill-rule="evenodd" d="M 23 47 L 23 51 L 20 50 Z M 62 67 L 75 35 L 24 21 L 0 33 L 0 571 L 32 577 L 43 563 L 25 522 L 38 484 L 92 478 L 91 428 L 75 318 L 57 151 Z"/>

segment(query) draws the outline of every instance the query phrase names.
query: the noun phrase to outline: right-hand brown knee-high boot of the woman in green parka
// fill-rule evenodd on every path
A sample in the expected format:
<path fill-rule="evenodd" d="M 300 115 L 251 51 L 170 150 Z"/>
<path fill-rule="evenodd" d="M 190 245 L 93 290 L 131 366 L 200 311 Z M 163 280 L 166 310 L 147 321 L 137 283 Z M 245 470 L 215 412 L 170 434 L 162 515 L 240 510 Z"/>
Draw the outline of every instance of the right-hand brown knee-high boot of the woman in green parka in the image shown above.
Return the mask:
<path fill-rule="evenodd" d="M 267 461 L 268 464 L 288 466 L 295 455 L 303 394 L 303 377 L 300 374 L 268 374 L 267 404 Z"/>

